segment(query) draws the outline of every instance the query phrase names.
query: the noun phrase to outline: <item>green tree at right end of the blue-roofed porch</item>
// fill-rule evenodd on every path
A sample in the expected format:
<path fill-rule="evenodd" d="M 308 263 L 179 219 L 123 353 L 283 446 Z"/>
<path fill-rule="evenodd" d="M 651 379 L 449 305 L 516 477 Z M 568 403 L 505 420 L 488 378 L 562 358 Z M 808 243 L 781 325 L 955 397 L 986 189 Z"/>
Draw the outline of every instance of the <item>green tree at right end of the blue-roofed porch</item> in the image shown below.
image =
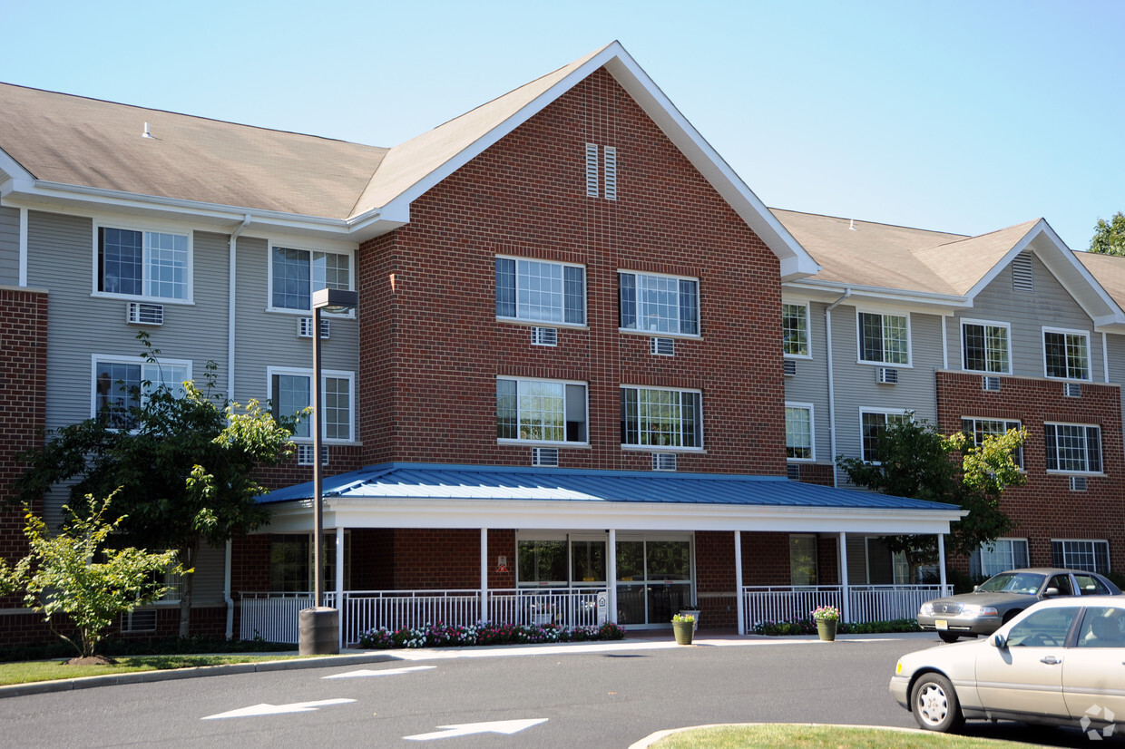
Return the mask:
<path fill-rule="evenodd" d="M 1026 430 L 1009 430 L 987 435 L 975 445 L 971 435 L 943 436 L 925 419 L 908 418 L 879 431 L 878 462 L 842 455 L 836 463 L 856 486 L 969 511 L 951 525 L 946 541 L 950 553 L 968 557 L 1011 529 L 1011 520 L 1000 509 L 1000 495 L 1026 480 L 1014 459 L 1026 439 Z M 955 460 L 958 454 L 960 461 Z M 918 567 L 937 561 L 934 535 L 884 536 L 883 541 L 891 551 L 906 554 L 911 576 Z"/>

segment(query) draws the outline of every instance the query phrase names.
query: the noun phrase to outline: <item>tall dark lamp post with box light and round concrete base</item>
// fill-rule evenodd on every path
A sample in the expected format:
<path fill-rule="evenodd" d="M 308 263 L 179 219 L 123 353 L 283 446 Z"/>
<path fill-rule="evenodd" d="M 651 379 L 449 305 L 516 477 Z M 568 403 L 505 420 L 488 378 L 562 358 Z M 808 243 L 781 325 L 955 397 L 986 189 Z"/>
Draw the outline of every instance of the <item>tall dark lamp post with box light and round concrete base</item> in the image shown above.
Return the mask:
<path fill-rule="evenodd" d="M 300 612 L 298 648 L 302 656 L 340 652 L 340 612 L 324 603 L 324 497 L 321 467 L 321 442 L 324 430 L 323 391 L 321 382 L 321 310 L 342 313 L 359 305 L 359 294 L 343 289 L 321 289 L 313 292 L 313 607 Z M 336 596 L 342 592 L 336 590 Z"/>

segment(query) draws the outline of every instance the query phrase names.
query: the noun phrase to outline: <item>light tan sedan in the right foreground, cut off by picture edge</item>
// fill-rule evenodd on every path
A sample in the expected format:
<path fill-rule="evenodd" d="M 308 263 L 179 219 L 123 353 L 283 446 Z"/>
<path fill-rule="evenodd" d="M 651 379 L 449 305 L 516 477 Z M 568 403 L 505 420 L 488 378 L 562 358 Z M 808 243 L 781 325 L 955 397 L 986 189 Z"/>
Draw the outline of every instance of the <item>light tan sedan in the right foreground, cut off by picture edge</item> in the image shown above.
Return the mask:
<path fill-rule="evenodd" d="M 983 719 L 1110 736 L 1125 723 L 1125 599 L 1035 604 L 987 639 L 907 653 L 890 688 L 930 731 Z"/>

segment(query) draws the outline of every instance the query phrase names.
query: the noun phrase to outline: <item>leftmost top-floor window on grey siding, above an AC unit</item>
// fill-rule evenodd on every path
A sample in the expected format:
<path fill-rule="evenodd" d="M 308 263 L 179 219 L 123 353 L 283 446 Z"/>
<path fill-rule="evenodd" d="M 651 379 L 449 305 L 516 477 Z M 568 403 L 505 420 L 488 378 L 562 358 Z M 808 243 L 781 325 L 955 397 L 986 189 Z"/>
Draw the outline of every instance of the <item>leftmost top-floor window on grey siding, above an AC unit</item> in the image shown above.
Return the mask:
<path fill-rule="evenodd" d="M 191 298 L 187 234 L 98 227 L 98 291 L 153 299 Z"/>

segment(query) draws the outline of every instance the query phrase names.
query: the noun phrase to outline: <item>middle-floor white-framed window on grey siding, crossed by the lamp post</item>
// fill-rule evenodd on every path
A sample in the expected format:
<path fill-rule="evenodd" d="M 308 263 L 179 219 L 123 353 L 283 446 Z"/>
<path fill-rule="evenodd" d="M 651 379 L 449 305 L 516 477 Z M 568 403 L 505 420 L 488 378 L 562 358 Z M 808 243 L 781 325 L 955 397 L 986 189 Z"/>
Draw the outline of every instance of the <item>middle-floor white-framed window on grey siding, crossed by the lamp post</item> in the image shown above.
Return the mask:
<path fill-rule="evenodd" d="M 313 405 L 313 370 L 268 367 L 270 407 L 274 418 L 292 416 Z M 352 442 L 356 425 L 356 373 L 325 370 L 321 373 L 324 386 L 324 434 L 325 442 Z M 313 439 L 313 418 L 303 416 L 292 439 L 309 442 Z"/>

